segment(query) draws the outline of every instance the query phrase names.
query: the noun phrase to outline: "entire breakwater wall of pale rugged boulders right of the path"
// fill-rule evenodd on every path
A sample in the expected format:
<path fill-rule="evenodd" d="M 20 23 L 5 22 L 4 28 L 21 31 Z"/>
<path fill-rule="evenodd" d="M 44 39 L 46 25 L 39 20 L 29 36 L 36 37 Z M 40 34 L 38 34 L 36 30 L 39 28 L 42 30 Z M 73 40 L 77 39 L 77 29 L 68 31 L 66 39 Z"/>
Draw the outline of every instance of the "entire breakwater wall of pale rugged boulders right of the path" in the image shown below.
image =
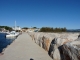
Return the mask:
<path fill-rule="evenodd" d="M 80 60 L 79 33 L 28 33 L 53 60 Z"/>

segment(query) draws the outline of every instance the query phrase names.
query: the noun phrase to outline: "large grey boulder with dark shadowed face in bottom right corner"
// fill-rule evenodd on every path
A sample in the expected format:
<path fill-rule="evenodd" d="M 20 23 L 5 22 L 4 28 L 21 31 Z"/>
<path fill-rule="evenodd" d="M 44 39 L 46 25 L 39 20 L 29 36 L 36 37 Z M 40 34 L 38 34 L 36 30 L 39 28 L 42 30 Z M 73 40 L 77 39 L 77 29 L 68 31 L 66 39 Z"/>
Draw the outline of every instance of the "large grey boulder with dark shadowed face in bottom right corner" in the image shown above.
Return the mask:
<path fill-rule="evenodd" d="M 66 43 L 62 46 L 64 60 L 80 60 L 80 41 Z"/>

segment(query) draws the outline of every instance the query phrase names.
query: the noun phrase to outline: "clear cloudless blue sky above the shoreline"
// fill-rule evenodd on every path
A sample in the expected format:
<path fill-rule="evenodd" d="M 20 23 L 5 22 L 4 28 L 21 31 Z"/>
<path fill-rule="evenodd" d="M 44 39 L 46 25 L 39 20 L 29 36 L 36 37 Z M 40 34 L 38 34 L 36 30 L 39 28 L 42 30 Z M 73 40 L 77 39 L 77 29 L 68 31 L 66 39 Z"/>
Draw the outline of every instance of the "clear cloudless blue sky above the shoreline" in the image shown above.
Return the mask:
<path fill-rule="evenodd" d="M 80 0 L 0 0 L 0 25 L 80 29 Z"/>

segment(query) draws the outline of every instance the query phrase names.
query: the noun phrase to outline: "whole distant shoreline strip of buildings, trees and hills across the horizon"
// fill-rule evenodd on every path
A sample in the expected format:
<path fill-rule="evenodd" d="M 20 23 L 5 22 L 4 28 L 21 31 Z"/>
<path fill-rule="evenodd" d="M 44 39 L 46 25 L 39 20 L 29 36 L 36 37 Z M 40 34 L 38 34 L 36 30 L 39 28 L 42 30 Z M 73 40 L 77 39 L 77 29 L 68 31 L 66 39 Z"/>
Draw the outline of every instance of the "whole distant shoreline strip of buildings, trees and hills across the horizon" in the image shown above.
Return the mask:
<path fill-rule="evenodd" d="M 51 27 L 42 27 L 42 28 L 37 28 L 37 27 L 23 27 L 21 28 L 20 26 L 14 26 L 14 27 L 9 27 L 9 26 L 0 26 L 0 32 L 10 32 L 10 31 L 16 31 L 16 32 L 80 32 L 80 29 L 66 29 L 64 28 L 51 28 Z"/>

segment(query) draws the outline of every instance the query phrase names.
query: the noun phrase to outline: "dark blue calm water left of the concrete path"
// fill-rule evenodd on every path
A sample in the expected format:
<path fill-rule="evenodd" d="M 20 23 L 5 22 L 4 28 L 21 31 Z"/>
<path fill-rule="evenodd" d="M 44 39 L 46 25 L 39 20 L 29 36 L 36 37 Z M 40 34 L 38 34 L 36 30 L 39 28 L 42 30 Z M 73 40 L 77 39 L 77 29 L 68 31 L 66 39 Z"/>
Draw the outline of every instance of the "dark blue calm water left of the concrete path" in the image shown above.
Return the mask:
<path fill-rule="evenodd" d="M 0 33 L 0 53 L 15 40 L 15 38 L 6 38 L 5 36 L 5 33 Z"/>

